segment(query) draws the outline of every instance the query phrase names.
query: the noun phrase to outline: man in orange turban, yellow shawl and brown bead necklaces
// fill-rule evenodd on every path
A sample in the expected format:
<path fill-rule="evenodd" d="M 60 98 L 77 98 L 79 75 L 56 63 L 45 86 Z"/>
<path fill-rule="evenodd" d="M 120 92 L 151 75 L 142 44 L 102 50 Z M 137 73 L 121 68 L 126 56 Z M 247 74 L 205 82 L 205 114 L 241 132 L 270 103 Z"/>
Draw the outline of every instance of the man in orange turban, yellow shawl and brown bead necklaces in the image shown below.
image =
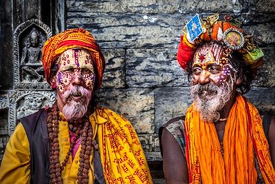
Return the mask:
<path fill-rule="evenodd" d="M 94 37 L 82 28 L 56 34 L 42 63 L 56 102 L 19 120 L 0 183 L 153 183 L 131 123 L 96 103 L 105 62 Z"/>

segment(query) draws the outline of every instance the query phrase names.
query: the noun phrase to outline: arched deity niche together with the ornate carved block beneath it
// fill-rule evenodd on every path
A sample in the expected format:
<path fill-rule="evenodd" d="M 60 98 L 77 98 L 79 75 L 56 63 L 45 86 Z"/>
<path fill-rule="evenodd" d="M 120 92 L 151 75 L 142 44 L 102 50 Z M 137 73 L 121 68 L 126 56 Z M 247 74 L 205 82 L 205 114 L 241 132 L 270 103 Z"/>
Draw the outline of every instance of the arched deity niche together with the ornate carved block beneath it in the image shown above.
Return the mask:
<path fill-rule="evenodd" d="M 14 90 L 8 93 L 8 134 L 17 119 L 28 116 L 56 99 L 44 79 L 42 48 L 52 36 L 51 29 L 38 19 L 21 23 L 14 30 Z"/>

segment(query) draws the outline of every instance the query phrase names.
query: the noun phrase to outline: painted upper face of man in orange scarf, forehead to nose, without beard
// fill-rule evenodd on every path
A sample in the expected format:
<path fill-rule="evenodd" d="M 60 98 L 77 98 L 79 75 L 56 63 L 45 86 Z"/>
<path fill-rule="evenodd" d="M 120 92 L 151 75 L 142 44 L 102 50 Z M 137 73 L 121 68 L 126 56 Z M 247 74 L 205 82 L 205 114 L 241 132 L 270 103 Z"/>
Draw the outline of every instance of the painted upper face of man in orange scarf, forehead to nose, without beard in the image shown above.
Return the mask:
<path fill-rule="evenodd" d="M 210 81 L 221 85 L 227 81 L 230 71 L 234 70 L 229 63 L 229 53 L 230 50 L 217 43 L 209 43 L 199 48 L 192 63 L 193 85 Z"/>

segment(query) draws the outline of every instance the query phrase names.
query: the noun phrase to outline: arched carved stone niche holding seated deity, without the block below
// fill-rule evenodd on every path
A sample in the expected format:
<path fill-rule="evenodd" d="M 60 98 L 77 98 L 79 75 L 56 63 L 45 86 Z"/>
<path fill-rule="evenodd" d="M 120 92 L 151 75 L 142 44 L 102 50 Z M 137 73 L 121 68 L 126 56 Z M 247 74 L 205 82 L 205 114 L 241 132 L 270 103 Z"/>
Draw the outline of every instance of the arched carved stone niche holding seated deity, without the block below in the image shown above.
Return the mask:
<path fill-rule="evenodd" d="M 41 63 L 42 48 L 52 36 L 45 23 L 30 19 L 21 23 L 14 31 L 14 88 L 50 89 L 45 82 Z"/>

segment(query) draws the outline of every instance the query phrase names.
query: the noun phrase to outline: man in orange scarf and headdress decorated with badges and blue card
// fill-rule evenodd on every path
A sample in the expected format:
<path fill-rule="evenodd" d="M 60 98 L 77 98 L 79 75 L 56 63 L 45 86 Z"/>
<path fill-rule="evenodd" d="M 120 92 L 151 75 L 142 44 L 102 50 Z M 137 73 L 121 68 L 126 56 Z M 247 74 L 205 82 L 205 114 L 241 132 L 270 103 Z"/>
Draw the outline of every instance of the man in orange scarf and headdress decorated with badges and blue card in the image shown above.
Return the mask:
<path fill-rule="evenodd" d="M 197 14 L 184 28 L 177 61 L 193 103 L 159 130 L 168 184 L 275 183 L 275 116 L 261 119 L 243 96 L 263 52 L 239 25 Z"/>

